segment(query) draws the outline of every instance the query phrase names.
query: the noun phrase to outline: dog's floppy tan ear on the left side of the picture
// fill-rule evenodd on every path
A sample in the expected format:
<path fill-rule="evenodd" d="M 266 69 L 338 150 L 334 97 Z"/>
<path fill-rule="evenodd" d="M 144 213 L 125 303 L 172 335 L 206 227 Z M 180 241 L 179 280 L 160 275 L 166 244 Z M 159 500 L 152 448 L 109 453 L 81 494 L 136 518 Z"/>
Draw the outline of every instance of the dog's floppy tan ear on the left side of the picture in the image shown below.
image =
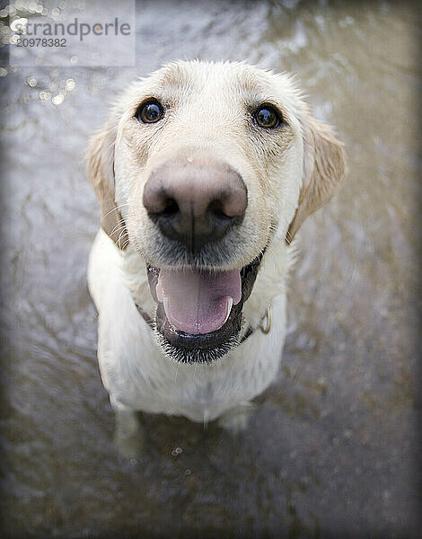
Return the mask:
<path fill-rule="evenodd" d="M 117 120 L 110 121 L 92 136 L 86 154 L 86 175 L 100 200 L 101 227 L 121 249 L 126 247 L 126 225 L 115 202 L 114 145 Z M 123 249 L 125 248 L 123 247 Z"/>

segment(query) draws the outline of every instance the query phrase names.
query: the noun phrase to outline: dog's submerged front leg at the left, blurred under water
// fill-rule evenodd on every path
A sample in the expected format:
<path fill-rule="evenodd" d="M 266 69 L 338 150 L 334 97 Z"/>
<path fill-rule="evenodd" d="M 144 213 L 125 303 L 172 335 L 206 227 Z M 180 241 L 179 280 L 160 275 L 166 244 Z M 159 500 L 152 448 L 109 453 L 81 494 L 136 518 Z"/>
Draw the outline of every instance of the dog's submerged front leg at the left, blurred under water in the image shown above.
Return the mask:
<path fill-rule="evenodd" d="M 116 412 L 114 446 L 119 455 L 129 460 L 137 460 L 145 450 L 144 428 L 135 411 Z"/>

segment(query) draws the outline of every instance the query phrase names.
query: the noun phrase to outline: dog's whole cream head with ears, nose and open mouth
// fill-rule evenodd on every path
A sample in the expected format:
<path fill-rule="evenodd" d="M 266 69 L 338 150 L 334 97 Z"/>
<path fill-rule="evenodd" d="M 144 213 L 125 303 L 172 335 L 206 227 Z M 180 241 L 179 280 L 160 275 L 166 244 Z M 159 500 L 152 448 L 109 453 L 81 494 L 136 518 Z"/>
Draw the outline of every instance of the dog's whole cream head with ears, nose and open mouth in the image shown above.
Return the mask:
<path fill-rule="evenodd" d="M 344 175 L 341 143 L 291 77 L 178 62 L 130 85 L 92 138 L 101 225 L 145 259 L 165 352 L 222 357 L 277 235 L 290 243 Z"/>

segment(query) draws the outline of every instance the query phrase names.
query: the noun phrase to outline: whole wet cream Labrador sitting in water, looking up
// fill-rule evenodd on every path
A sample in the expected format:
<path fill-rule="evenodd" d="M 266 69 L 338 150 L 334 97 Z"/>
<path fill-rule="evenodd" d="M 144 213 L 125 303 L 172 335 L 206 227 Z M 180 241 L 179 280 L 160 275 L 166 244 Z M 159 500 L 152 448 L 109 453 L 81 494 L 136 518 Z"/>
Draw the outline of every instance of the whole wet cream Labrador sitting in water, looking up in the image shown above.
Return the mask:
<path fill-rule="evenodd" d="M 343 144 L 295 78 L 180 61 L 130 84 L 92 137 L 101 206 L 88 286 L 116 442 L 137 411 L 245 428 L 286 334 L 292 241 L 345 174 Z"/>

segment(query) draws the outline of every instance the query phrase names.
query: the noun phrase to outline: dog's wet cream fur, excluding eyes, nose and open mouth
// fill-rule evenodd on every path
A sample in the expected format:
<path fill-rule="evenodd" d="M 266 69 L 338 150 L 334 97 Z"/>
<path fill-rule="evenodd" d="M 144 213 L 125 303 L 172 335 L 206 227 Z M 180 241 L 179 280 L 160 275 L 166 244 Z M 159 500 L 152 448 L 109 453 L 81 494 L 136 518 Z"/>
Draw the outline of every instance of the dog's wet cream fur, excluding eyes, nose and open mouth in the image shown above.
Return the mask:
<path fill-rule="evenodd" d="M 174 112 L 154 125 L 136 124 L 138 103 L 157 93 L 176 103 Z M 268 100 L 282 110 L 285 128 L 253 126 L 245 102 Z M 242 241 L 232 244 L 232 261 L 224 269 L 248 264 L 268 243 L 243 315 L 245 328 L 257 328 L 271 305 L 271 330 L 266 335 L 256 329 L 208 365 L 165 357 L 135 305 L 154 317 L 144 256 L 161 265 L 159 236 L 142 205 L 145 181 L 160 163 L 192 154 L 232 165 L 248 190 Z M 87 172 L 101 202 L 103 228 L 112 235 L 119 226 L 117 205 L 130 240 L 122 251 L 101 229 L 88 272 L 99 312 L 101 376 L 118 411 L 118 431 L 121 427 L 130 437 L 136 430 L 132 411 L 194 421 L 220 418 L 237 429 L 251 399 L 277 376 L 286 334 L 286 277 L 294 258 L 286 234 L 293 237 L 303 219 L 334 194 L 344 174 L 341 143 L 312 118 L 289 75 L 242 63 L 178 62 L 130 85 L 119 97 L 108 124 L 92 139 Z"/>

